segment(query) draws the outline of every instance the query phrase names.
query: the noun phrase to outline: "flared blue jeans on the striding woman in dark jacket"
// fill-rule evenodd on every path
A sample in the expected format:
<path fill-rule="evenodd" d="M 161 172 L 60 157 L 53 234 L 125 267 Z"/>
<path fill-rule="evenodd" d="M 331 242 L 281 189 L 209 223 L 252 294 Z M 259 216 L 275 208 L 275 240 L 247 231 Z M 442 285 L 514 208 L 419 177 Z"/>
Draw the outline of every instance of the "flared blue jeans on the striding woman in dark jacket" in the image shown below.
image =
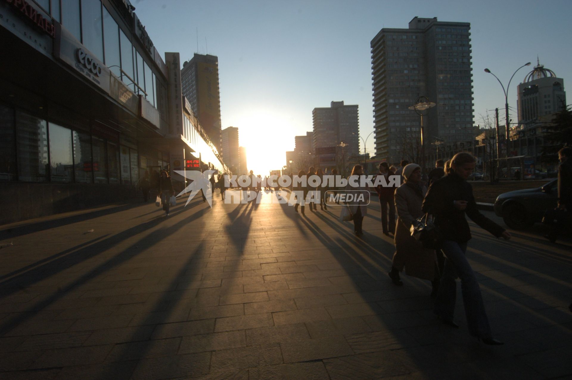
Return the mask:
<path fill-rule="evenodd" d="M 447 259 L 435 303 L 435 314 L 444 320 L 453 320 L 457 291 L 455 278 L 459 276 L 469 333 L 474 337 L 491 338 L 491 327 L 484 311 L 479 282 L 465 257 L 466 250 L 467 243 L 457 243 L 452 240 L 445 240 L 443 243 L 443 252 Z"/>

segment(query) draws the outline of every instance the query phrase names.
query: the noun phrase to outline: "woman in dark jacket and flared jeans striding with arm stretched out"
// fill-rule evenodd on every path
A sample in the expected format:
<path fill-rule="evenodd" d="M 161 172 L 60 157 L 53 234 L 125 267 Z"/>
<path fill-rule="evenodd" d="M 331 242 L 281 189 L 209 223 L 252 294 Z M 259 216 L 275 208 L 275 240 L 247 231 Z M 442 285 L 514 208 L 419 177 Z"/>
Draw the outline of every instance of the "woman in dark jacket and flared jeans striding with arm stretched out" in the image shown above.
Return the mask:
<path fill-rule="evenodd" d="M 455 278 L 458 275 L 461 279 L 463 304 L 470 334 L 482 339 L 487 345 L 502 345 L 502 342 L 492 338 L 479 283 L 465 257 L 467 242 L 471 239 L 465 213 L 472 221 L 497 238 L 509 240 L 511 236 L 476 208 L 472 187 L 467 183 L 467 178 L 474 169 L 474 156 L 467 152 L 457 153 L 450 161 L 447 175 L 431 184 L 423 201 L 423 212 L 435 217 L 435 224 L 444 235 L 442 249 L 447 257 L 435 303 L 435 314 L 443 319 L 443 323 L 459 327 L 453 322 Z"/>

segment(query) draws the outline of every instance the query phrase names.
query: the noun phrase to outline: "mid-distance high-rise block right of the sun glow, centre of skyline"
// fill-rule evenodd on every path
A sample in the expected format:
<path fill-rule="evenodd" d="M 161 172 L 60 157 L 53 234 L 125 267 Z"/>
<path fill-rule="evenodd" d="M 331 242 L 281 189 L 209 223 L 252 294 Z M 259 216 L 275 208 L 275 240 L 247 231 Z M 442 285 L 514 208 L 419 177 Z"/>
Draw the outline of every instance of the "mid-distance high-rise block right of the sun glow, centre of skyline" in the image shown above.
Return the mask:
<path fill-rule="evenodd" d="M 331 168 L 336 165 L 337 148 L 341 142 L 344 160 L 359 155 L 358 105 L 344 105 L 343 101 L 330 103 L 329 108 L 314 108 L 313 161 L 316 167 Z"/>

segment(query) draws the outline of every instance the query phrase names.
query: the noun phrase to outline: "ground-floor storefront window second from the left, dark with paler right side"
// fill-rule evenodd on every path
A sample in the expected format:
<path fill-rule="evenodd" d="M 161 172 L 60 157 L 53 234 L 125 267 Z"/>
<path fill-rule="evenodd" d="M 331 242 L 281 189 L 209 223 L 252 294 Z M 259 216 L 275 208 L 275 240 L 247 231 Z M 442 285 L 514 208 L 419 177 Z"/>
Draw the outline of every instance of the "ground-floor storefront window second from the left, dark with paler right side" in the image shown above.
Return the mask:
<path fill-rule="evenodd" d="M 18 179 L 47 181 L 49 162 L 47 153 L 47 123 L 23 112 L 16 114 Z"/>

